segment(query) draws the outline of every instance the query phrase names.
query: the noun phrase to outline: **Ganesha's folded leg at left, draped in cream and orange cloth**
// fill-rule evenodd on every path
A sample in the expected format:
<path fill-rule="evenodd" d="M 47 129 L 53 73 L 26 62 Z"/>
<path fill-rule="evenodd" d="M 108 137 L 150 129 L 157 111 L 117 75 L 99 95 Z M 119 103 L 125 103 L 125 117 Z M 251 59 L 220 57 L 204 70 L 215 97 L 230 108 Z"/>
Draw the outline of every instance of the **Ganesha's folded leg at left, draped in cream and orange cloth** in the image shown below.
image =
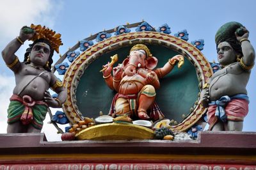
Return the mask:
<path fill-rule="evenodd" d="M 115 104 L 115 111 L 116 116 L 122 116 L 124 114 L 131 116 L 129 101 L 126 98 L 118 98 Z"/>

